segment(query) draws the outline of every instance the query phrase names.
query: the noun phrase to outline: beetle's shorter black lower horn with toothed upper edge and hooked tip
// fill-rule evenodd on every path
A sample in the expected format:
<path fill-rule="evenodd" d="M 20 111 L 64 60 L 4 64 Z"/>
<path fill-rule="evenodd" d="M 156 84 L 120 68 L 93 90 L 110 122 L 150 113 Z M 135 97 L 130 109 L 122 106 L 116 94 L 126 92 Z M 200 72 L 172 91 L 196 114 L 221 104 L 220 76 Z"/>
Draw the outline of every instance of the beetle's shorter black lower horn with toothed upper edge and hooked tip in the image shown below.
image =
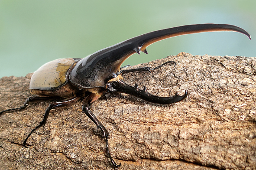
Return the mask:
<path fill-rule="evenodd" d="M 138 88 L 138 85 L 135 84 L 134 87 L 126 84 L 123 80 L 113 81 L 111 83 L 107 83 L 107 89 L 109 91 L 117 91 L 121 93 L 126 93 L 129 95 L 133 95 L 140 99 L 146 100 L 148 102 L 156 103 L 156 104 L 172 104 L 184 100 L 187 95 L 188 91 L 185 90 L 184 95 L 176 95 L 170 97 L 160 97 L 157 95 L 151 95 L 147 92 L 146 87 L 144 86 L 143 89 Z"/>

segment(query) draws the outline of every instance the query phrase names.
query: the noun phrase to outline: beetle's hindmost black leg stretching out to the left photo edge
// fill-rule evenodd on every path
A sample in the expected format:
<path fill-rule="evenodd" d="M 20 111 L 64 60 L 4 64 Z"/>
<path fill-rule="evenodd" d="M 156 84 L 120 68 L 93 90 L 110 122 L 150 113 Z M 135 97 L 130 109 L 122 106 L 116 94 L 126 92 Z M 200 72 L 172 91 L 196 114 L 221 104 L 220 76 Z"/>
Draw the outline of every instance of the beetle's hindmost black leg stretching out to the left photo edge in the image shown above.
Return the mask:
<path fill-rule="evenodd" d="M 9 111 L 14 111 L 14 110 L 23 110 L 25 108 L 27 108 L 27 106 L 29 105 L 29 102 L 42 102 L 42 101 L 47 101 L 47 100 L 54 100 L 55 97 L 28 97 L 23 106 L 19 107 L 19 108 L 10 108 L 10 109 L 7 109 L 7 110 L 4 110 L 2 112 L 0 112 L 0 116 L 4 113 L 4 112 L 9 112 Z"/>

